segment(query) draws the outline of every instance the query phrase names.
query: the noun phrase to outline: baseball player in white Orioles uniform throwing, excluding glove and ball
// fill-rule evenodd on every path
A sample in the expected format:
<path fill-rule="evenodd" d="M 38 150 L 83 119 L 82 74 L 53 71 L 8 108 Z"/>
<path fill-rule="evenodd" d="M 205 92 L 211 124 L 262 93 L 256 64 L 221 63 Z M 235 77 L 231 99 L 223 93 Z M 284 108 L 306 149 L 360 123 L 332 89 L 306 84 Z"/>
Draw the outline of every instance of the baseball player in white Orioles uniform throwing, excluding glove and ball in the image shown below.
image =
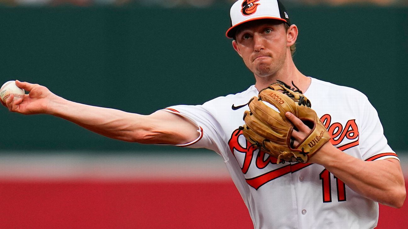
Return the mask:
<path fill-rule="evenodd" d="M 123 141 L 213 150 L 222 156 L 255 229 L 374 228 L 378 203 L 397 208 L 404 203 L 398 156 L 364 94 L 297 70 L 292 59 L 297 35 L 278 0 L 238 0 L 226 36 L 256 79 L 243 92 L 140 115 L 67 101 L 44 86 L 16 81 L 29 95 L 3 105 L 22 114 L 52 114 Z M 308 163 L 278 163 L 242 134 L 248 101 L 277 80 L 293 81 L 304 92 L 330 135 Z M 310 128 L 285 115 L 295 126 L 295 144 L 301 142 Z"/>

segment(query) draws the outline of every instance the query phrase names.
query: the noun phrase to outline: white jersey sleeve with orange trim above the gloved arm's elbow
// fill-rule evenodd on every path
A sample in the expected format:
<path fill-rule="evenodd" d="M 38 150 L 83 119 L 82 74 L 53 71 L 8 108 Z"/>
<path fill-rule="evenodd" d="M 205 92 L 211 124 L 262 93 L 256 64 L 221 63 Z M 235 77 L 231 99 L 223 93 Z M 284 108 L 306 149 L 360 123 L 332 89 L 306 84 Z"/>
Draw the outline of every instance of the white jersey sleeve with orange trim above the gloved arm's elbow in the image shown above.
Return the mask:
<path fill-rule="evenodd" d="M 397 154 L 387 143 L 377 110 L 375 110 L 367 98 L 365 98 L 363 108 L 361 120 L 364 121 L 361 125 L 361 130 L 359 130 L 359 145 L 363 160 L 375 161 L 388 158 L 399 160 Z"/>

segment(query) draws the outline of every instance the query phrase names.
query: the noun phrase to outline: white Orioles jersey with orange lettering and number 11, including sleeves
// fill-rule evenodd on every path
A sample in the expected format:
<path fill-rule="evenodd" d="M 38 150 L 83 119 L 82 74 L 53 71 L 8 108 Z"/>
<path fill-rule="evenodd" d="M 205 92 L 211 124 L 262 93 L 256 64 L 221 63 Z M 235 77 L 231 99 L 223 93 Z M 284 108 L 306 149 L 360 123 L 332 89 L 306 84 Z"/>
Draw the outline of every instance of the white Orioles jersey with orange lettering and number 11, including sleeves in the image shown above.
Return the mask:
<path fill-rule="evenodd" d="M 311 78 L 304 95 L 321 117 L 332 139 L 345 153 L 365 161 L 398 159 L 388 146 L 377 111 L 361 92 Z M 164 110 L 193 121 L 200 137 L 180 145 L 207 148 L 222 156 L 248 207 L 255 229 L 371 229 L 378 203 L 347 187 L 322 165 L 280 163 L 254 150 L 242 132 L 248 106 L 258 95 L 255 86 L 197 106 Z M 249 149 L 248 149 L 249 148 Z"/>

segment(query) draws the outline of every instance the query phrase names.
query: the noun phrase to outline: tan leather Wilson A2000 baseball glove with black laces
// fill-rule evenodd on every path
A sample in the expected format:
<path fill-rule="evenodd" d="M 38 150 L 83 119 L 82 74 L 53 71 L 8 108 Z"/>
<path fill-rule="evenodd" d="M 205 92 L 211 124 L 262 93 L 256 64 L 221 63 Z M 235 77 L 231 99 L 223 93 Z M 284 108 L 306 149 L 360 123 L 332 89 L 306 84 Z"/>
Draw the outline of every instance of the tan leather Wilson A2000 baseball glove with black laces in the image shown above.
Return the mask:
<path fill-rule="evenodd" d="M 276 157 L 277 163 L 280 160 L 306 163 L 330 140 L 330 136 L 302 91 L 295 85 L 290 89 L 284 82 L 278 82 L 261 90 L 258 97 L 248 102 L 249 111 L 244 112 L 245 125 L 240 129 L 253 146 Z M 294 145 L 292 137 L 293 130 L 297 129 L 285 116 L 288 111 L 311 129 L 298 145 Z"/>

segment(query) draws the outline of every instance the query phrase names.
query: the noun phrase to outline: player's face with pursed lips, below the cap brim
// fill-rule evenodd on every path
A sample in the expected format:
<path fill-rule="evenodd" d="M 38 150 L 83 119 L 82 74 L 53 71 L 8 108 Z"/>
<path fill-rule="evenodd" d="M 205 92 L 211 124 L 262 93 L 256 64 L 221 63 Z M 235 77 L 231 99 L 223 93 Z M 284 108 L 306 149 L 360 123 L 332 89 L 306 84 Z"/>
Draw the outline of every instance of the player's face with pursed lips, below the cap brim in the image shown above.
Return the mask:
<path fill-rule="evenodd" d="M 259 77 L 275 75 L 290 55 L 287 32 L 279 21 L 244 24 L 237 31 L 233 46 L 245 65 Z"/>

